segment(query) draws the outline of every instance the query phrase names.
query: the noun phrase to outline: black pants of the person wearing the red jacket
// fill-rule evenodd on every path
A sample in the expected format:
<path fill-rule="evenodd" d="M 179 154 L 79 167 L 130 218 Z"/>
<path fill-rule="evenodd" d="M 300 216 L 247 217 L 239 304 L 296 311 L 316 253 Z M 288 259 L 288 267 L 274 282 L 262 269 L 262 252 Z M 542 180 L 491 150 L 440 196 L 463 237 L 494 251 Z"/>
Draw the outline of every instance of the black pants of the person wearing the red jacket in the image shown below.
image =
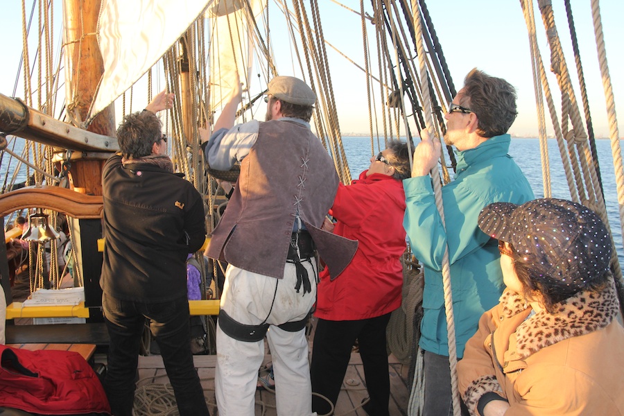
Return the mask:
<path fill-rule="evenodd" d="M 358 340 L 364 365 L 366 388 L 370 395 L 367 413 L 386 416 L 390 401 L 388 352 L 385 349 L 385 327 L 390 313 L 365 320 L 329 321 L 319 319 L 314 333 L 310 367 L 312 392 L 327 397 L 336 405 L 343 385 L 351 350 Z M 312 410 L 319 415 L 329 413 L 329 404 L 312 397 Z"/>

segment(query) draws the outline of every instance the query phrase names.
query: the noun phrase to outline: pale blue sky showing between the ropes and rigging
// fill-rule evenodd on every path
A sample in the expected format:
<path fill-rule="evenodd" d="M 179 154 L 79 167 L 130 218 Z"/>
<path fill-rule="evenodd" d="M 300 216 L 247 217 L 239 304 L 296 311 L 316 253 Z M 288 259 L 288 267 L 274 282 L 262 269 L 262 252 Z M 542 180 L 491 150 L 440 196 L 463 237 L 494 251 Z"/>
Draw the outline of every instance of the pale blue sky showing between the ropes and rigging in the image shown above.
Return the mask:
<path fill-rule="evenodd" d="M 5 34 L 11 33 L 12 40 L 3 48 L 3 65 L 0 67 L 0 92 L 12 95 L 15 85 L 15 74 L 21 55 L 21 1 L 10 0 L 3 3 L 0 21 Z M 359 64 L 363 64 L 363 47 L 361 26 L 353 12 L 345 10 L 330 0 L 320 0 L 321 17 L 324 21 L 324 34 L 328 42 L 335 45 Z M 359 10 L 359 2 L 344 0 L 346 6 Z M 367 11 L 372 14 L 370 2 L 365 2 Z M 575 67 L 569 42 L 569 29 L 564 14 L 562 0 L 554 0 L 555 22 L 557 31 L 562 37 L 566 62 L 575 78 Z M 600 79 L 596 53 L 596 41 L 591 21 L 591 1 L 571 0 L 584 74 L 589 91 L 589 101 L 594 130 L 597 137 L 607 137 L 605 96 Z M 30 10 L 32 2 L 26 1 Z M 57 12 L 62 4 L 54 3 Z M 276 7 L 271 3 L 275 12 Z M 535 6 L 537 11 L 537 4 Z M 517 87 L 519 116 L 512 125 L 510 132 L 517 136 L 537 136 L 537 117 L 535 112 L 535 95 L 531 76 L 529 46 L 526 25 L 524 23 L 518 0 L 429 0 L 428 9 L 433 19 L 437 35 L 447 58 L 451 75 L 456 87 L 460 87 L 465 74 L 473 67 L 483 69 L 490 75 L 505 78 Z M 612 85 L 616 98 L 616 110 L 620 119 L 624 117 L 624 25 L 619 19 L 624 15 L 624 2 L 618 0 L 600 1 L 603 17 L 603 31 L 607 44 L 607 60 L 612 76 Z M 539 12 L 538 12 L 539 13 Z M 549 64 L 549 53 L 544 36 L 544 25 L 537 17 L 537 35 L 540 51 L 546 66 Z M 369 33 L 372 37 L 372 33 Z M 330 69 L 333 87 L 336 93 L 338 116 L 343 135 L 349 132 L 367 133 L 368 115 L 365 103 L 365 83 L 363 74 L 354 69 L 347 60 L 328 49 L 331 59 Z M 31 61 L 33 57 L 31 56 Z M 376 63 L 375 63 L 376 65 Z M 281 73 L 286 75 L 288 67 L 282 67 Z M 17 96 L 23 96 L 23 80 L 17 83 Z M 555 78 L 551 77 L 551 89 L 557 89 Z M 558 89 L 557 89 L 558 90 Z M 555 96 L 555 103 L 559 103 Z M 578 94 L 580 100 L 580 94 Z M 618 105 L 619 103 L 619 105 Z M 261 114 L 263 111 L 261 111 Z M 552 132 L 551 122 L 546 119 L 548 132 Z M 624 136 L 624 122 L 620 122 L 620 136 Z"/>

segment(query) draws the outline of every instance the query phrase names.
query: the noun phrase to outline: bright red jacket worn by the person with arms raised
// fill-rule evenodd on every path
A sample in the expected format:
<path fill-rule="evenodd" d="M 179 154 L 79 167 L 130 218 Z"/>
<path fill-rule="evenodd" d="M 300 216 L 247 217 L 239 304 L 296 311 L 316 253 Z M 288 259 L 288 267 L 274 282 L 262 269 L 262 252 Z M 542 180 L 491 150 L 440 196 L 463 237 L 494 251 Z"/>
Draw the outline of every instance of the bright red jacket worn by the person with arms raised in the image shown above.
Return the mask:
<path fill-rule="evenodd" d="M 334 234 L 358 240 L 349 266 L 333 280 L 320 273 L 315 315 L 324 320 L 376 318 L 401 306 L 406 250 L 405 193 L 400 180 L 373 173 L 351 185 L 340 184 L 330 214 Z"/>

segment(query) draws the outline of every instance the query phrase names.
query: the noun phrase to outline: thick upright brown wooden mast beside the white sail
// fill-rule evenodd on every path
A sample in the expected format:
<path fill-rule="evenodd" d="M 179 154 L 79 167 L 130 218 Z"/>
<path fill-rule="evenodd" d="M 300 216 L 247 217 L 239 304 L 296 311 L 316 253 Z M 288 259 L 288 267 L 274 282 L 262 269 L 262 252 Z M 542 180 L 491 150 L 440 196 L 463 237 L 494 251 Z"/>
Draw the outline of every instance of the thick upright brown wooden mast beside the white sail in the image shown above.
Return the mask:
<path fill-rule="evenodd" d="M 89 107 L 104 73 L 96 33 L 101 0 L 64 0 L 65 78 L 67 112 L 76 123 L 87 119 Z M 99 135 L 115 136 L 114 107 L 109 105 L 87 128 Z M 116 147 L 116 144 L 115 144 Z M 111 147 L 111 150 L 112 147 Z M 116 149 L 115 149 L 116 150 Z M 82 159 L 71 164 L 75 191 L 102 195 L 103 159 Z"/>

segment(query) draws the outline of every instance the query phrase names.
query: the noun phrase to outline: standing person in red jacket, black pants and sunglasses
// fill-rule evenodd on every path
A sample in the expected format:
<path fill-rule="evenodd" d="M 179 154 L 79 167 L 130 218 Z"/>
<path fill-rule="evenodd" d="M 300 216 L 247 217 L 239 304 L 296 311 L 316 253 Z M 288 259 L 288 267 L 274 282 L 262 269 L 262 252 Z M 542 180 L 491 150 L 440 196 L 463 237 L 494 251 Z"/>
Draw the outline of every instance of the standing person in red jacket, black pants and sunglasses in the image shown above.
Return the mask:
<path fill-rule="evenodd" d="M 327 268 L 320 273 L 312 349 L 312 391 L 334 406 L 345 377 L 351 349 L 358 340 L 370 402 L 370 415 L 388 415 L 390 377 L 385 327 L 401 306 L 406 249 L 403 182 L 410 176 L 412 146 L 392 141 L 371 157 L 370 167 L 351 185 L 340 184 L 324 229 L 358 240 L 358 250 L 338 279 Z M 315 395 L 312 409 L 329 413 L 329 404 Z"/>

